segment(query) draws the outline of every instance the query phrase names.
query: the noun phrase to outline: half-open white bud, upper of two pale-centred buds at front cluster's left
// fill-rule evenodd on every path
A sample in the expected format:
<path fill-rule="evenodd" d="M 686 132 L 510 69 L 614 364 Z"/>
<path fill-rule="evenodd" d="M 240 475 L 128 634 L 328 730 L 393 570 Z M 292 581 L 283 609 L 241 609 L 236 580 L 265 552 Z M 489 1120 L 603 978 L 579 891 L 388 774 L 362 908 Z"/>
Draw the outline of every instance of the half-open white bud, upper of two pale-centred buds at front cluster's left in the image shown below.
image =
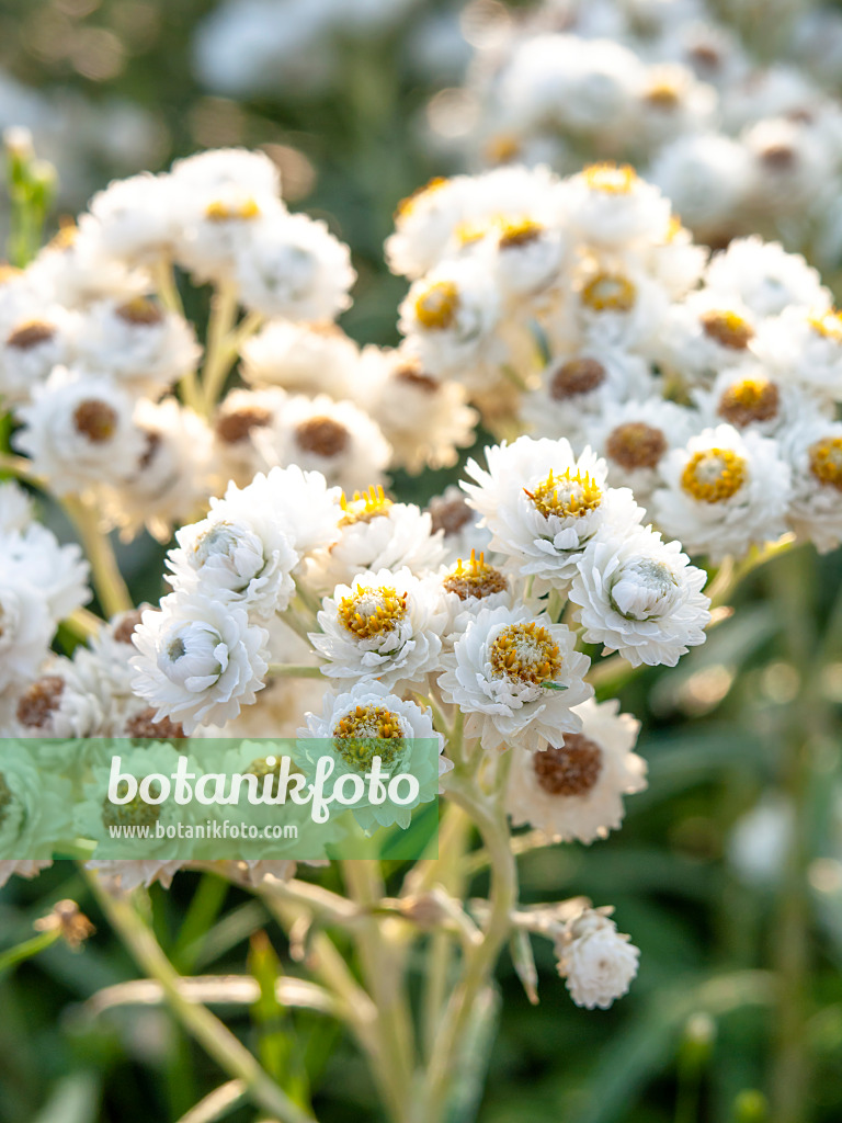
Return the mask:
<path fill-rule="evenodd" d="M 227 518 L 216 503 L 207 519 L 176 532 L 170 551 L 170 584 L 176 592 L 201 591 L 257 617 L 283 612 L 295 592 L 292 572 L 299 564 L 280 518 L 253 511 L 251 519 Z"/>

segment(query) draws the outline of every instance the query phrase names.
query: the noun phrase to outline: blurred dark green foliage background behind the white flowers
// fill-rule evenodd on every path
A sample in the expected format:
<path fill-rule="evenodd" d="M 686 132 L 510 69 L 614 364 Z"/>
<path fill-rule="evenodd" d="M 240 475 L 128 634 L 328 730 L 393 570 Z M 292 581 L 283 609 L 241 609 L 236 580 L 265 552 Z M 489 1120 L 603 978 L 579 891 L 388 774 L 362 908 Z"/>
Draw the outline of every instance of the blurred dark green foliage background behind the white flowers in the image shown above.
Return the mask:
<path fill-rule="evenodd" d="M 33 128 L 58 167 L 67 212 L 116 174 L 201 147 L 266 147 L 292 206 L 327 218 L 351 246 L 359 282 L 344 326 L 359 341 L 395 343 L 403 283 L 386 272 L 382 243 L 397 201 L 450 170 L 424 143 L 424 107 L 458 81 L 467 53 L 460 61 L 451 36 L 421 64 L 412 45 L 433 18 L 469 37 L 477 4 L 461 24 L 459 6 L 442 0 L 410 8 L 385 31 L 340 34 L 319 91 L 248 100 L 196 77 L 195 29 L 216 7 L 0 0 L 0 125 Z M 424 501 L 456 475 L 401 477 L 395 491 Z M 123 558 L 138 597 L 158 595 L 159 557 L 145 546 Z M 768 1090 L 772 1056 L 778 1079 L 787 1065 L 811 1066 L 799 1119 L 842 1119 L 839 558 L 784 556 L 741 586 L 735 609 L 676 670 L 646 670 L 622 687 L 650 764 L 650 787 L 629 798 L 623 830 L 522 859 L 527 902 L 586 888 L 596 904 L 613 903 L 642 966 L 623 1002 L 588 1013 L 567 997 L 549 944 L 536 947 L 538 1007 L 504 956 L 503 1002 L 489 996 L 485 1014 L 491 1063 L 485 1072 L 477 1057 L 465 1070 L 481 1123 L 760 1123 L 763 1097 L 752 1089 Z M 57 942 L 13 973 L 0 966 L 0 1119 L 174 1123 L 219 1072 L 161 1006 L 99 1008 L 93 996 L 137 969 L 71 864 L 2 892 L 0 965 L 64 897 L 98 926 L 83 950 Z M 296 969 L 259 901 L 212 876 L 181 875 L 150 901 L 184 973 Z M 268 1014 L 237 1006 L 227 1019 L 309 1087 L 324 1123 L 377 1119 L 363 1062 L 332 1023 Z"/>

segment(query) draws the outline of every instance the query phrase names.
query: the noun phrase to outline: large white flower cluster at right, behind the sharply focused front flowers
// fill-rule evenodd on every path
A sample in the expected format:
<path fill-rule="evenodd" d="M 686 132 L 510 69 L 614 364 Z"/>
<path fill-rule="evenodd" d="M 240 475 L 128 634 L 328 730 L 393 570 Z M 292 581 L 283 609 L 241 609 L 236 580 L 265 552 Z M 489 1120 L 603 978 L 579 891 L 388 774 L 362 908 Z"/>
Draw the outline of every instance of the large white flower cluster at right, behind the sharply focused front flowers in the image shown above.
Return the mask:
<path fill-rule="evenodd" d="M 387 253 L 412 281 L 404 346 L 465 385 L 489 428 L 594 449 L 713 563 L 787 531 L 822 551 L 842 540 L 842 319 L 803 257 L 756 237 L 710 257 L 658 188 L 613 164 L 433 181 Z M 513 457 L 512 487 L 518 447 L 492 454 Z M 600 550 L 604 574 L 638 547 Z M 539 546 L 528 572 L 542 562 Z M 574 595 L 598 602 L 601 581 L 580 573 Z"/>

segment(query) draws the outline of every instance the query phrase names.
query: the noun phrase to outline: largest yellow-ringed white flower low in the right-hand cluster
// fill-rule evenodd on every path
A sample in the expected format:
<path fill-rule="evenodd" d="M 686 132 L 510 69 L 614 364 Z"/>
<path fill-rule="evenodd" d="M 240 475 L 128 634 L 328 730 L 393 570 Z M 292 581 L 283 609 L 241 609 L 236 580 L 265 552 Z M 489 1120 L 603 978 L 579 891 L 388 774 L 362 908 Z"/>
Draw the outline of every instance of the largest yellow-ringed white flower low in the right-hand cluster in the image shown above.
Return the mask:
<path fill-rule="evenodd" d="M 655 493 L 658 526 L 712 562 L 744 555 L 785 530 L 790 469 L 775 440 L 729 424 L 705 429 L 662 465 Z"/>

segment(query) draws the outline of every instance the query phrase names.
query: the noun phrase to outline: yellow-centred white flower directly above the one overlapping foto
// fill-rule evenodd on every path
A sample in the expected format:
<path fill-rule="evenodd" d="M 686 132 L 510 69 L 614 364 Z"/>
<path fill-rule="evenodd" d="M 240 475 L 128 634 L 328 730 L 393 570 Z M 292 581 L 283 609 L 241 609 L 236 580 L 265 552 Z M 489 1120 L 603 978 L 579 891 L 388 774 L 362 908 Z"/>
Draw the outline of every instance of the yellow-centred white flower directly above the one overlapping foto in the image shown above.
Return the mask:
<path fill-rule="evenodd" d="M 328 660 L 322 674 L 353 685 L 377 679 L 390 690 L 422 690 L 439 666 L 445 609 L 434 578 L 381 569 L 326 596 L 311 633 Z"/>

